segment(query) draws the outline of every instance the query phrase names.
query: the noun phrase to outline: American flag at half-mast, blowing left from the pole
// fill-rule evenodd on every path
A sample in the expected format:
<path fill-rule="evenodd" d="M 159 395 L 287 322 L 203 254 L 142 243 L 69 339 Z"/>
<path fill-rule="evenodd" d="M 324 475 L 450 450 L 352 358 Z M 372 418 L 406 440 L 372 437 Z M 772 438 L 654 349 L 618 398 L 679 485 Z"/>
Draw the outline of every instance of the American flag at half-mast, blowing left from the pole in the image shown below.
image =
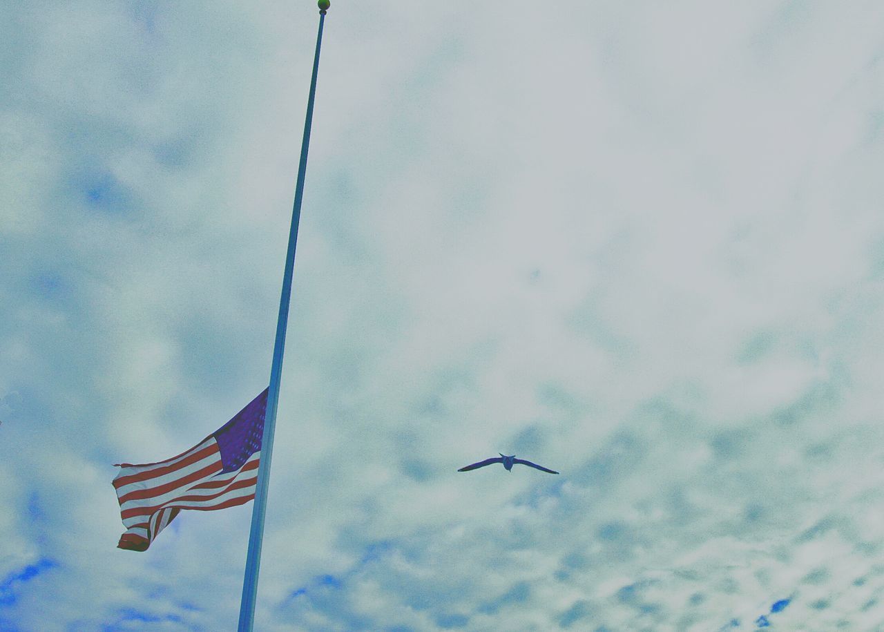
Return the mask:
<path fill-rule="evenodd" d="M 147 551 L 182 509 L 210 511 L 255 498 L 267 389 L 229 422 L 178 456 L 118 463 L 113 479 L 126 533 L 120 549 Z"/>

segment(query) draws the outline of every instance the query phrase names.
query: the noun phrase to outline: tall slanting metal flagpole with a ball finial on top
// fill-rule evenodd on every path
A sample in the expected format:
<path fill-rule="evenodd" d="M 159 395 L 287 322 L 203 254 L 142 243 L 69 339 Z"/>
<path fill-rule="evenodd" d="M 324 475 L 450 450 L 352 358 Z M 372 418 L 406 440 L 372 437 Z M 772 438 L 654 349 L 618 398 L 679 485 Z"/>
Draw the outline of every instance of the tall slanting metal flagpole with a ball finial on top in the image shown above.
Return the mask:
<path fill-rule="evenodd" d="M 255 505 L 252 507 L 252 526 L 248 532 L 248 554 L 246 576 L 242 583 L 239 632 L 251 632 L 255 621 L 255 596 L 258 591 L 258 570 L 261 567 L 261 544 L 264 534 L 264 512 L 267 508 L 267 487 L 270 483 L 271 455 L 273 452 L 273 430 L 276 426 L 277 404 L 279 401 L 279 378 L 282 375 L 282 356 L 286 346 L 286 325 L 288 306 L 292 295 L 292 272 L 294 269 L 294 248 L 298 243 L 298 224 L 301 220 L 301 198 L 304 194 L 304 175 L 307 172 L 307 150 L 310 144 L 310 124 L 313 120 L 313 101 L 316 96 L 316 74 L 319 72 L 319 49 L 323 42 L 325 11 L 329 0 L 319 0 L 319 30 L 316 33 L 316 56 L 313 58 L 313 76 L 310 79 L 310 95 L 307 100 L 307 118 L 304 121 L 304 138 L 301 141 L 301 164 L 298 166 L 298 181 L 294 187 L 292 227 L 288 234 L 286 271 L 282 280 L 282 296 L 279 299 L 276 342 L 273 346 L 271 385 L 267 392 L 267 413 L 264 418 L 264 431 L 261 442 L 261 464 L 258 467 L 258 482 L 255 488 Z"/>

